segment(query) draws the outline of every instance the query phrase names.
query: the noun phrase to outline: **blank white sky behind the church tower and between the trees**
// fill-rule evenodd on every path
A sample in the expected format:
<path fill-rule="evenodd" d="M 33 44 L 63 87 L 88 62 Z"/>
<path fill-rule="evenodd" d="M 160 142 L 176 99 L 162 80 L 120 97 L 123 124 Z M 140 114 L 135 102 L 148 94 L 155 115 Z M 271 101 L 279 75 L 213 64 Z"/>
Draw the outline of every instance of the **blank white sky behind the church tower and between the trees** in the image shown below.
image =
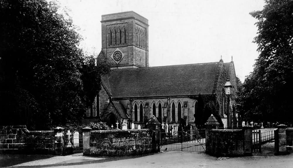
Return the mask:
<path fill-rule="evenodd" d="M 244 82 L 258 57 L 257 21 L 263 0 L 59 0 L 80 27 L 83 48 L 101 50 L 101 15 L 134 11 L 149 20 L 149 65 L 224 62 L 231 56 Z"/>

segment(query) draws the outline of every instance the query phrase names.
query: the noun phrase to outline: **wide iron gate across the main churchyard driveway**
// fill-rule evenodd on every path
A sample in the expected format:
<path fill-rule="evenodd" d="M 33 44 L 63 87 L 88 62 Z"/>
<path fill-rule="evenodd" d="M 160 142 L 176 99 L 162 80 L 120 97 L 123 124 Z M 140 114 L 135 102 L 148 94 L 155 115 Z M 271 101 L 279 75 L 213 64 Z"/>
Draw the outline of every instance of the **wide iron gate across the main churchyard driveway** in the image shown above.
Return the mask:
<path fill-rule="evenodd" d="M 160 131 L 160 150 L 205 152 L 205 129 L 171 126 Z"/>

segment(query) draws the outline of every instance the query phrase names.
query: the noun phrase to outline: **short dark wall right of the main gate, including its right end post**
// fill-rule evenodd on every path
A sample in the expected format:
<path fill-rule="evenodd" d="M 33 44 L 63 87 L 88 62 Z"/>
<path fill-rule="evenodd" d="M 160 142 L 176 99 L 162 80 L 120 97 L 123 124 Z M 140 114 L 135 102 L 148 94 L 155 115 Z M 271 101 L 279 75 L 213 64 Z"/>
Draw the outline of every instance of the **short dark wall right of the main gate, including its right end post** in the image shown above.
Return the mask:
<path fill-rule="evenodd" d="M 216 156 L 251 155 L 251 138 L 251 127 L 207 130 L 206 153 Z"/>

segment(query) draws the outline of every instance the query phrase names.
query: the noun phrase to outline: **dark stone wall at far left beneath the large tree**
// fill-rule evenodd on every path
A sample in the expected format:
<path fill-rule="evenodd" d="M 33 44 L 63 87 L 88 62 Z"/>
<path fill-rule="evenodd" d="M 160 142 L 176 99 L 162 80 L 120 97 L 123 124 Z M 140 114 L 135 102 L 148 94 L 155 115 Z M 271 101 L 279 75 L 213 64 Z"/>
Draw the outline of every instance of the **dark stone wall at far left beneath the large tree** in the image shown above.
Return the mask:
<path fill-rule="evenodd" d="M 0 126 L 0 154 L 54 154 L 54 131 L 29 131 L 25 125 Z"/>

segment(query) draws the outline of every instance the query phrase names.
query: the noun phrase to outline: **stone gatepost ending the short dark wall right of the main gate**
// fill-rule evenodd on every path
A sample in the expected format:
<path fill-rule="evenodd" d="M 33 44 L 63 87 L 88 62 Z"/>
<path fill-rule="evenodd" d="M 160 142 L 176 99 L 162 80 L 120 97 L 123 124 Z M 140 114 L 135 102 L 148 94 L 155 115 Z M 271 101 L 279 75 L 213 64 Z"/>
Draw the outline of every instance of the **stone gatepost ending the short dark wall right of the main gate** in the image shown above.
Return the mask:
<path fill-rule="evenodd" d="M 252 127 L 246 125 L 242 129 L 244 131 L 244 155 L 252 155 Z"/>

